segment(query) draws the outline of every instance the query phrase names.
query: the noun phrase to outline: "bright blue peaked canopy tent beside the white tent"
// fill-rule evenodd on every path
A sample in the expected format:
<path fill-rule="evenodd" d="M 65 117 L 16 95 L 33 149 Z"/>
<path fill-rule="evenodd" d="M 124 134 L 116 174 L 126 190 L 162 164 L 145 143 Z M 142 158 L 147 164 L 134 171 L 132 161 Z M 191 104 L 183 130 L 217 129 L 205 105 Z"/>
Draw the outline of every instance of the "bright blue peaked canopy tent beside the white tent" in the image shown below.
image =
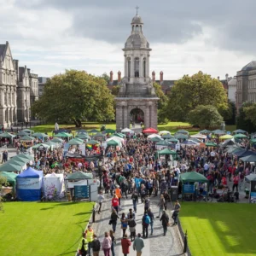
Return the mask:
<path fill-rule="evenodd" d="M 43 171 L 28 167 L 16 177 L 17 198 L 20 201 L 39 201 L 41 199 L 41 188 Z"/>

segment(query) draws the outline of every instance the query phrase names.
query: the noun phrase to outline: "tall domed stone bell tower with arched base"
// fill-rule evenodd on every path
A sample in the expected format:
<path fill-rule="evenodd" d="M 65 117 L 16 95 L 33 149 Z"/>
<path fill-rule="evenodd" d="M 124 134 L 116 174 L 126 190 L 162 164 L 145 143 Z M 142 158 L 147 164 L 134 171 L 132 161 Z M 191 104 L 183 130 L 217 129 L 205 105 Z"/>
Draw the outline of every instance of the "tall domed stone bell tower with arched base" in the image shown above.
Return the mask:
<path fill-rule="evenodd" d="M 149 77 L 150 51 L 143 35 L 143 20 L 136 15 L 131 20 L 131 35 L 124 51 L 124 78 L 120 79 L 116 101 L 116 127 L 120 131 L 130 123 L 143 121 L 145 128 L 157 128 L 157 102 L 153 81 Z"/>

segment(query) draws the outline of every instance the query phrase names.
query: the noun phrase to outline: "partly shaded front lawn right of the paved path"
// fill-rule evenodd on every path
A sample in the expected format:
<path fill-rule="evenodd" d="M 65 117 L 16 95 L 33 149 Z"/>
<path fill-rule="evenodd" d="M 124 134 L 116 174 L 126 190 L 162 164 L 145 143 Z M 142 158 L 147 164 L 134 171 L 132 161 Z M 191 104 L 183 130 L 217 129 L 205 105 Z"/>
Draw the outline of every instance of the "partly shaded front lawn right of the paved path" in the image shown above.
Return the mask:
<path fill-rule="evenodd" d="M 184 202 L 180 220 L 192 255 L 255 256 L 255 212 L 253 204 Z"/>

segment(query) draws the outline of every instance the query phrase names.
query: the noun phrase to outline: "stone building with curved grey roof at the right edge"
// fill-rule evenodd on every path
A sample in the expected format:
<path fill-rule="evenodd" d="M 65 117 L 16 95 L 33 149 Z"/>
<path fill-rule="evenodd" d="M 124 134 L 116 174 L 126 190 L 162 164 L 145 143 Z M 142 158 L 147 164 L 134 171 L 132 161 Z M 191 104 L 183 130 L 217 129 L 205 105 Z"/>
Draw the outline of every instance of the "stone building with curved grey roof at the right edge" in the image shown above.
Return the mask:
<path fill-rule="evenodd" d="M 256 102 L 256 61 L 251 61 L 236 73 L 236 108 L 243 102 Z"/>

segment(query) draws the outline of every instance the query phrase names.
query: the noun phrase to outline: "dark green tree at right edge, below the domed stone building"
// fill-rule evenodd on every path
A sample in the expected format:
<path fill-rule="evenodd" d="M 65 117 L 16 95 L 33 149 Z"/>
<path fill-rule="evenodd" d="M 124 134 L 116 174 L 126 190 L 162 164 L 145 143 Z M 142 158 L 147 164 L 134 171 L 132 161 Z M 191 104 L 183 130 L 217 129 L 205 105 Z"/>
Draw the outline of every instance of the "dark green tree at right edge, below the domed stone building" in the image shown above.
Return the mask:
<path fill-rule="evenodd" d="M 253 125 L 251 119 L 248 119 L 249 113 L 247 109 L 253 107 L 253 103 L 251 102 L 244 102 L 239 109 L 239 114 L 236 119 L 236 127 L 237 129 L 242 129 L 247 132 L 256 131 L 256 125 Z"/>

